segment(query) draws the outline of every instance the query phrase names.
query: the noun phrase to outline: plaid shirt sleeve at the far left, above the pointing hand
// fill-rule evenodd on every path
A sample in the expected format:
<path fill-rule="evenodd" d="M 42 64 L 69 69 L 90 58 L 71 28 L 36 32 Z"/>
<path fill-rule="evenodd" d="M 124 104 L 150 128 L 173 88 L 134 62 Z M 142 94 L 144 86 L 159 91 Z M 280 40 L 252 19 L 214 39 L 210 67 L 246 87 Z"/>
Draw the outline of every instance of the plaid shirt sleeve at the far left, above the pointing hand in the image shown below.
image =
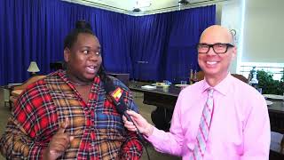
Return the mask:
<path fill-rule="evenodd" d="M 36 128 L 40 129 L 40 122 L 36 120 L 36 105 L 41 105 L 43 99 L 36 96 L 40 92 L 36 87 L 28 88 L 15 103 L 12 117 L 0 139 L 1 153 L 7 158 L 40 159 L 43 148 L 48 145 L 36 140 Z"/>

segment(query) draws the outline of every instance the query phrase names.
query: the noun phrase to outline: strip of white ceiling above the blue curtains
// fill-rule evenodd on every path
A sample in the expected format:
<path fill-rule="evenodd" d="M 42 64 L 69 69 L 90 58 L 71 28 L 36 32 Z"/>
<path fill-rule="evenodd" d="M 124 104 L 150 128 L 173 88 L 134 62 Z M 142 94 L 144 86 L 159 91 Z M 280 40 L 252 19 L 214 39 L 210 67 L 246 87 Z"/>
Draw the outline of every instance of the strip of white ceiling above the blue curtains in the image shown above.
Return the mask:
<path fill-rule="evenodd" d="M 176 10 L 183 10 L 185 8 L 191 8 L 206 4 L 216 4 L 219 2 L 229 0 L 187 0 L 189 4 L 179 4 L 180 0 L 139 0 L 139 1 L 150 1 L 150 6 L 141 7 L 141 12 L 132 12 L 137 5 L 138 0 L 63 0 L 70 3 L 84 4 L 93 7 L 99 7 L 114 12 L 122 12 L 132 15 L 145 15 L 157 12 L 171 12 Z"/>

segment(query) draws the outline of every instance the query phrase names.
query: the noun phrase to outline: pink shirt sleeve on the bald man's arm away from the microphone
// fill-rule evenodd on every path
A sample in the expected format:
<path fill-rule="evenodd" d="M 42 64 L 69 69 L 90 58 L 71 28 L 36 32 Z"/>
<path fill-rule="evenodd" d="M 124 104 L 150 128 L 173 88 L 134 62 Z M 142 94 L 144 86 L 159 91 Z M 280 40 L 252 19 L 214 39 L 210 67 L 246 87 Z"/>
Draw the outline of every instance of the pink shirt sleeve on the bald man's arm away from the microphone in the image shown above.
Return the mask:
<path fill-rule="evenodd" d="M 264 97 L 259 96 L 252 102 L 243 131 L 244 154 L 242 160 L 269 159 L 271 130 L 268 109 Z"/>

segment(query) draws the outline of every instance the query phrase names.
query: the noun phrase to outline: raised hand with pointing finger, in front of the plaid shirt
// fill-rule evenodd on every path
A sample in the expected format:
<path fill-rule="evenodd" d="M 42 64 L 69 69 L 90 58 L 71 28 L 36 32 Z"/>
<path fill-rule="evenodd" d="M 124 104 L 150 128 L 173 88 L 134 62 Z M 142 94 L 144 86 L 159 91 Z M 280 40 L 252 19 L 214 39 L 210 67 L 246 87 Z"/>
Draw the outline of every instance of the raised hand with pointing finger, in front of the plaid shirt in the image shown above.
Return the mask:
<path fill-rule="evenodd" d="M 43 159 L 57 159 L 69 148 L 70 141 L 73 140 L 74 137 L 65 133 L 68 124 L 68 118 L 65 119 L 65 122 L 59 124 L 59 131 L 51 138 L 48 148 L 43 150 Z"/>

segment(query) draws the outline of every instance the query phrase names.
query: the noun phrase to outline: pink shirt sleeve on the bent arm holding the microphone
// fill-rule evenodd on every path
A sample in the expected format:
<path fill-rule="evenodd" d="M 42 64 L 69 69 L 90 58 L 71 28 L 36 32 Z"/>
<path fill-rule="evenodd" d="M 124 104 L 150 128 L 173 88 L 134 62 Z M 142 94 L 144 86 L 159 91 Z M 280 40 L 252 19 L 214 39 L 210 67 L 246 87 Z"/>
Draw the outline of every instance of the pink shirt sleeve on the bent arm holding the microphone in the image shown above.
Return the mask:
<path fill-rule="evenodd" d="M 171 119 L 170 132 L 164 132 L 154 127 L 153 134 L 146 137 L 154 148 L 160 152 L 168 153 L 175 156 L 182 156 L 182 146 L 184 141 L 184 134 L 181 126 L 181 99 L 182 92 L 177 98 L 177 103 Z"/>

